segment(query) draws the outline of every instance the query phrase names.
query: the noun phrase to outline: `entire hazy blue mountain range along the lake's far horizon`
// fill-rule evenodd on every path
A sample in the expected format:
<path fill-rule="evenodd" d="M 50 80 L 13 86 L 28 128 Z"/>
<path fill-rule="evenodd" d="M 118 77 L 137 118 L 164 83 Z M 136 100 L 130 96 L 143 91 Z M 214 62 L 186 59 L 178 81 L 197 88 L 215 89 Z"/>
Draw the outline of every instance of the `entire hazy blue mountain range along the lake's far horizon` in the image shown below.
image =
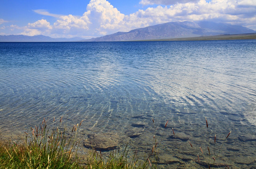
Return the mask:
<path fill-rule="evenodd" d="M 233 35 L 256 33 L 240 25 L 214 22 L 169 22 L 148 26 L 145 28 L 134 29 L 128 32 L 116 32 L 99 38 L 51 38 L 43 35 L 24 36 L 8 35 L 0 36 L 0 42 L 70 42 L 70 41 L 134 41 L 134 40 L 159 40 L 171 38 L 190 38 L 215 35 Z"/>

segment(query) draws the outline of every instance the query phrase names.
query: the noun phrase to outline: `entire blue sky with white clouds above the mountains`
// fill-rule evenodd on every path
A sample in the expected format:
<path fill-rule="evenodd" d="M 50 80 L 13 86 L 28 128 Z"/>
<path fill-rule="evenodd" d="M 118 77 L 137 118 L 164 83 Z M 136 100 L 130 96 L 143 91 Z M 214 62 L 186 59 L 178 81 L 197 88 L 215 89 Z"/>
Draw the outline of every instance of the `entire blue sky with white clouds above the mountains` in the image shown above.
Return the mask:
<path fill-rule="evenodd" d="M 94 38 L 183 21 L 256 30 L 256 0 L 0 0 L 0 35 Z"/>

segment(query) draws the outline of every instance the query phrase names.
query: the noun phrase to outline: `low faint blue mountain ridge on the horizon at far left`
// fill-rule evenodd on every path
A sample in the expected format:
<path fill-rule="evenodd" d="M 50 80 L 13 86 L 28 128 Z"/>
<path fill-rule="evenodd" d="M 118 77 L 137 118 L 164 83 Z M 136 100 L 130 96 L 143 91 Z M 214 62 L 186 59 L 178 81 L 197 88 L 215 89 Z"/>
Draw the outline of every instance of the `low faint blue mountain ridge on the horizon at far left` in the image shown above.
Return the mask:
<path fill-rule="evenodd" d="M 43 35 L 4 35 L 0 36 L 0 42 L 71 42 L 79 41 L 83 38 L 51 38 Z"/>

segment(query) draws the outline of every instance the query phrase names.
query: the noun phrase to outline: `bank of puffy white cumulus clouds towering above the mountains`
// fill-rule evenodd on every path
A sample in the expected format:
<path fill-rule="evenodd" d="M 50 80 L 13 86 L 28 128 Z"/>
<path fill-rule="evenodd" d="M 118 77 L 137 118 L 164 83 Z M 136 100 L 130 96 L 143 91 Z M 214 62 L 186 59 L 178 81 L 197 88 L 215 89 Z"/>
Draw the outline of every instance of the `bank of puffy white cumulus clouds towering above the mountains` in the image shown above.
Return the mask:
<path fill-rule="evenodd" d="M 140 4 L 166 6 L 148 7 L 124 15 L 107 0 L 91 0 L 82 16 L 55 15 L 47 10 L 34 10 L 41 15 L 56 17 L 57 20 L 53 24 L 45 19 L 28 23 L 23 27 L 23 33 L 85 38 L 130 31 L 159 23 L 203 20 L 241 24 L 256 29 L 256 0 L 141 0 Z M 0 20 L 1 22 L 3 21 Z"/>

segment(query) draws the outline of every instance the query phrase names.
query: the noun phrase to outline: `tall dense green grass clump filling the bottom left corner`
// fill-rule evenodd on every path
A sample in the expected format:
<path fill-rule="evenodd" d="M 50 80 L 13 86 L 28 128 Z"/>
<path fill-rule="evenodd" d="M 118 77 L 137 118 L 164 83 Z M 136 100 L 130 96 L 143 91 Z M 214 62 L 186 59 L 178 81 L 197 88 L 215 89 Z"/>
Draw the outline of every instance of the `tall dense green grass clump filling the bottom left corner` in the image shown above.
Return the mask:
<path fill-rule="evenodd" d="M 62 123 L 62 119 L 60 120 Z M 80 123 L 81 124 L 81 123 Z M 60 124 L 61 126 L 61 124 Z M 22 144 L 0 146 L 0 169 L 78 169 L 74 149 L 78 127 L 75 125 L 69 137 L 66 129 L 47 129 L 44 119 L 40 127 L 31 128 Z"/>

